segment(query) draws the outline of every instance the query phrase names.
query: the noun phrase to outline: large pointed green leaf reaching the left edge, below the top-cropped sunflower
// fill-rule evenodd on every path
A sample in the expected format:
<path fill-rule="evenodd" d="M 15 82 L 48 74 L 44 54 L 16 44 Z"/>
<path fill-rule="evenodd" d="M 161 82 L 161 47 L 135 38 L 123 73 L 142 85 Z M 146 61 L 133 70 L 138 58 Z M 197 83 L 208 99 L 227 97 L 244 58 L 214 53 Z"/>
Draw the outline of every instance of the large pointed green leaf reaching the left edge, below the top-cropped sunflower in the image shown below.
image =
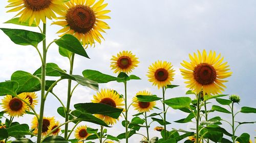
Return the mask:
<path fill-rule="evenodd" d="M 45 35 L 17 29 L 0 28 L 15 44 L 32 45 L 37 47 L 38 43 L 46 38 Z"/>

